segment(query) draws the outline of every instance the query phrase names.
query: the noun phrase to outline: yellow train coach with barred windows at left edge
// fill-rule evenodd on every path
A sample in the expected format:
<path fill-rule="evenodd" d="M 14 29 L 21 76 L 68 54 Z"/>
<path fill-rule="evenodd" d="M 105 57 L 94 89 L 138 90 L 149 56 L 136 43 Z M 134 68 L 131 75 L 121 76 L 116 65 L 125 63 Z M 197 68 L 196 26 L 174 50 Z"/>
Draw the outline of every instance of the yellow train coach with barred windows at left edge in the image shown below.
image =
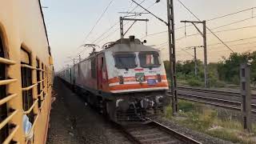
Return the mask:
<path fill-rule="evenodd" d="M 39 0 L 0 1 L 0 143 L 46 143 L 54 66 Z"/>

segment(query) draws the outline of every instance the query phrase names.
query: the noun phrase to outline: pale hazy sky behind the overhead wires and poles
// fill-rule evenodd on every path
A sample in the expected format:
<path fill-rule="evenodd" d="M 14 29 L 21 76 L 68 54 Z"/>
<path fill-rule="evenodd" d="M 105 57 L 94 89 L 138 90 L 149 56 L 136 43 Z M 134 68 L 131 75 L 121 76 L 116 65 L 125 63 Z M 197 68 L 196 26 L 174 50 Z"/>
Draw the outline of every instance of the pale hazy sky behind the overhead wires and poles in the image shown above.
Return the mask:
<path fill-rule="evenodd" d="M 119 17 L 126 12 L 134 10 L 136 5 L 131 0 L 41 0 L 49 35 L 50 46 L 54 57 L 54 67 L 61 70 L 67 64 L 72 64 L 71 58 L 86 58 L 91 50 L 81 47 L 85 43 L 95 43 L 102 46 L 106 42 L 114 42 L 120 38 Z M 144 0 L 136 0 L 142 2 Z M 180 0 L 200 20 L 206 20 L 206 26 L 214 31 L 223 42 L 226 42 L 234 52 L 243 53 L 256 50 L 256 1 L 255 0 Z M 109 8 L 106 10 L 106 7 Z M 155 3 L 155 0 L 145 0 L 142 6 L 148 8 L 153 14 L 167 21 L 166 0 Z M 252 9 L 250 9 L 252 8 Z M 246 10 L 250 9 L 250 10 Z M 103 11 L 106 13 L 102 15 Z M 222 15 L 233 14 L 224 18 Z M 133 12 L 145 12 L 137 7 Z M 100 21 L 95 23 L 100 18 Z M 133 17 L 131 17 L 133 18 Z M 126 34 L 135 35 L 140 40 L 146 39 L 148 46 L 161 49 L 162 59 L 169 58 L 167 26 L 150 14 L 142 14 L 136 18 L 148 18 L 149 22 L 136 22 Z M 207 21 L 212 18 L 218 18 Z M 194 50 L 187 47 L 202 46 L 202 36 L 194 26 L 180 22 L 182 20 L 198 21 L 178 0 L 174 0 L 174 22 L 177 60 L 190 60 L 194 57 Z M 131 22 L 124 22 L 125 30 Z M 231 24 L 234 23 L 234 24 Z M 94 27 L 95 26 L 95 27 Z M 202 30 L 202 25 L 197 25 Z M 94 27 L 94 30 L 92 28 Z M 146 28 L 147 27 L 147 28 Z M 111 29 L 110 29 L 111 28 Z M 90 31 L 92 32 L 90 33 Z M 161 34 L 155 34 L 162 32 Z M 102 35 L 103 34 L 103 35 Z M 154 35 L 150 35 L 154 34 Z M 193 36 L 190 36 L 190 35 Z M 226 46 L 218 44 L 218 38 L 207 30 L 208 62 L 218 62 L 222 57 L 231 53 Z M 198 58 L 203 60 L 203 50 L 198 48 Z"/>

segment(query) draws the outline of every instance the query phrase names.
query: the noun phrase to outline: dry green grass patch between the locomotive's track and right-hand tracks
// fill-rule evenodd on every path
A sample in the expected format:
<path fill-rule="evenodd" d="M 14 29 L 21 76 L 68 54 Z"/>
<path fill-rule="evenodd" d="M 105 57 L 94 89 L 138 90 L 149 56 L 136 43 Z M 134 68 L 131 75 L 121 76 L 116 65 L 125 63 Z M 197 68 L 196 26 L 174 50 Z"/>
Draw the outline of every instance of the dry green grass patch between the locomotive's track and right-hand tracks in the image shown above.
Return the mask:
<path fill-rule="evenodd" d="M 173 117 L 171 106 L 167 106 L 165 117 L 216 138 L 230 142 L 256 143 L 252 140 L 256 134 L 255 123 L 253 124 L 253 134 L 247 134 L 243 130 L 242 123 L 238 119 L 232 118 L 232 114 L 229 112 L 219 114 L 219 110 L 214 110 L 209 106 L 183 100 L 178 102 L 178 108 L 179 116 Z"/>

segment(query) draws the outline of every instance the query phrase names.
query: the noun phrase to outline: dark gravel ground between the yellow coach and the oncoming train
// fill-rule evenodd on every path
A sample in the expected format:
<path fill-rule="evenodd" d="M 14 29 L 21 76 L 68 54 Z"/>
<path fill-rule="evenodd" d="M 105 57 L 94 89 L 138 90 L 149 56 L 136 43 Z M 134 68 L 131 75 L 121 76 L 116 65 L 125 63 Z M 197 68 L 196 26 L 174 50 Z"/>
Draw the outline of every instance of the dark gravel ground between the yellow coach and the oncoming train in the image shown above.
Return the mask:
<path fill-rule="evenodd" d="M 130 143 L 110 126 L 110 122 L 66 88 L 59 78 L 55 78 L 54 88 L 58 95 L 52 105 L 47 144 Z"/>

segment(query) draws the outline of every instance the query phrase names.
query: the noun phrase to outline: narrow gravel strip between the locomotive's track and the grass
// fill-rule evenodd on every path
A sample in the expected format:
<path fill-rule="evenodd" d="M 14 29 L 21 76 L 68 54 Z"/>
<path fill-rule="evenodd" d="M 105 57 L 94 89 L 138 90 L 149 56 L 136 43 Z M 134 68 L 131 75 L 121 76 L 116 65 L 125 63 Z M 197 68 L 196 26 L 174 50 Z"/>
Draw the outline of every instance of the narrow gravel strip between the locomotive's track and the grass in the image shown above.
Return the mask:
<path fill-rule="evenodd" d="M 197 140 L 198 142 L 202 142 L 204 144 L 232 144 L 232 142 L 227 142 L 219 138 L 214 138 L 210 135 L 202 134 L 195 130 L 190 130 L 185 126 L 180 126 L 178 123 L 172 122 L 166 118 L 157 118 L 155 119 L 155 121 L 160 122 L 163 125 L 168 126 L 170 129 L 178 131 L 179 133 L 184 134 L 187 137 L 193 138 L 194 140 Z"/>

